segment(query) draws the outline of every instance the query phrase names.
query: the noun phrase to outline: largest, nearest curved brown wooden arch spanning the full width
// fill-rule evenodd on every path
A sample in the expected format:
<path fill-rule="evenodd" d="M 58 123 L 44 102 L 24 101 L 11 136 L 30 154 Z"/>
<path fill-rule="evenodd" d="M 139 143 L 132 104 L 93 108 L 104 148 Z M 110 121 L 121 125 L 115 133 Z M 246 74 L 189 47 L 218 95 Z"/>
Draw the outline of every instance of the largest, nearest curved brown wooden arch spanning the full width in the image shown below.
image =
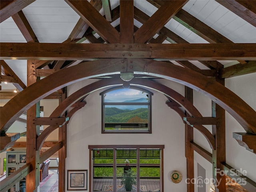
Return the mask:
<path fill-rule="evenodd" d="M 186 85 L 229 112 L 249 133 L 256 133 L 256 112 L 234 92 L 220 83 L 192 70 L 150 59 L 100 59 L 62 69 L 32 84 L 1 109 L 1 133 L 5 133 L 20 114 L 52 92 L 74 82 L 120 72 L 158 76 Z M 70 75 L 72 74 L 72 75 Z M 52 82 L 55 82 L 52 84 Z M 48 86 L 45 86 L 45 85 Z M 225 94 L 223 94 L 225 93 Z M 232 99 L 231 99 L 232 98 Z"/>

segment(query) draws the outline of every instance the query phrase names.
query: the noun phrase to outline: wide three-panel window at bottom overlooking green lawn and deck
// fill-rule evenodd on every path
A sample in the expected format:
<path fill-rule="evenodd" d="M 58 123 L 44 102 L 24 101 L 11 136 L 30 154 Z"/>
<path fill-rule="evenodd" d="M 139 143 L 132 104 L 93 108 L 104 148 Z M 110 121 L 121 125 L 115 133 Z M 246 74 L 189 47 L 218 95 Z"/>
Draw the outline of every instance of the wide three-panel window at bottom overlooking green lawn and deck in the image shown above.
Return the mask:
<path fill-rule="evenodd" d="M 163 145 L 89 146 L 89 149 L 90 191 L 162 191 Z"/>

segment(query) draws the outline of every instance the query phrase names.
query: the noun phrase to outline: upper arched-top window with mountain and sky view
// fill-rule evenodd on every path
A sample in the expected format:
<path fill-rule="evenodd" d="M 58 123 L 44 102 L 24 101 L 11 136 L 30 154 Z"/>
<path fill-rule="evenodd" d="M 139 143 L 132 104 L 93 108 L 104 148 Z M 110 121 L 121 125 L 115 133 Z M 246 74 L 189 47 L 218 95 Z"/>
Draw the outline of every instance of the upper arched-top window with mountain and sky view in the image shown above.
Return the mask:
<path fill-rule="evenodd" d="M 102 133 L 151 133 L 151 92 L 120 86 L 100 94 Z"/>

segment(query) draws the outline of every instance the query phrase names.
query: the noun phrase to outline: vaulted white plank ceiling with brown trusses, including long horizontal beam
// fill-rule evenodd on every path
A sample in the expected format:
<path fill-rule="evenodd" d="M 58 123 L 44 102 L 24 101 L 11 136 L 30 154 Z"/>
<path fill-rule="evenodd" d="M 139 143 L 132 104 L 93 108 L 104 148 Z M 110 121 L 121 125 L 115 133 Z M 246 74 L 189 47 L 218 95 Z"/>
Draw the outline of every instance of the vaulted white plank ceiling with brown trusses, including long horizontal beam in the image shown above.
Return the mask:
<path fill-rule="evenodd" d="M 253 0 L 1 0 L 0 22 L 1 99 L 26 88 L 27 60 L 38 77 L 102 58 L 220 79 L 256 72 Z"/>

